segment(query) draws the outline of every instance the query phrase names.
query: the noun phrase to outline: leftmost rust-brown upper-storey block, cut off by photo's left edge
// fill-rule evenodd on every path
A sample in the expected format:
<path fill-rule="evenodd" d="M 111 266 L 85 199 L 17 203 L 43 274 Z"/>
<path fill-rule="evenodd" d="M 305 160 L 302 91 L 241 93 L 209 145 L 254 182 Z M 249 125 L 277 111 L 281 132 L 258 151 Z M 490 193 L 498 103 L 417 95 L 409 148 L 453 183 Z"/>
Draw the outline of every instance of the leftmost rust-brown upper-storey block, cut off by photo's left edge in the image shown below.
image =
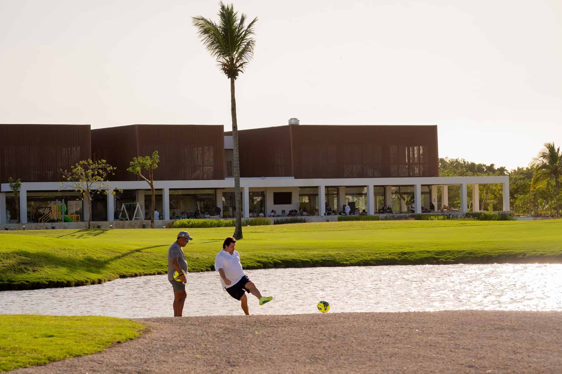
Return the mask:
<path fill-rule="evenodd" d="M 89 124 L 0 124 L 0 182 L 59 182 L 90 158 Z"/>

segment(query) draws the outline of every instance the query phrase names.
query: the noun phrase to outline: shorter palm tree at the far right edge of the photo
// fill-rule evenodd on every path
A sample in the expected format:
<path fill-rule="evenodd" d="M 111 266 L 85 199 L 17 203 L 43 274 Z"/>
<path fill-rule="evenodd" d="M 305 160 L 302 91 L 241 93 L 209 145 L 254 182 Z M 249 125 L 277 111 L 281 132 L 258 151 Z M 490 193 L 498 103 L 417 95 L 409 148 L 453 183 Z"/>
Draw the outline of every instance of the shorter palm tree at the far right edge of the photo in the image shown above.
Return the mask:
<path fill-rule="evenodd" d="M 554 191 L 556 198 L 556 218 L 560 217 L 560 206 L 558 195 L 560 194 L 560 182 L 562 181 L 562 154 L 560 147 L 556 148 L 554 142 L 545 143 L 545 148 L 540 151 L 536 158 L 533 158 L 535 172 L 531 179 L 531 187 L 541 187 L 546 182 L 554 179 Z"/>

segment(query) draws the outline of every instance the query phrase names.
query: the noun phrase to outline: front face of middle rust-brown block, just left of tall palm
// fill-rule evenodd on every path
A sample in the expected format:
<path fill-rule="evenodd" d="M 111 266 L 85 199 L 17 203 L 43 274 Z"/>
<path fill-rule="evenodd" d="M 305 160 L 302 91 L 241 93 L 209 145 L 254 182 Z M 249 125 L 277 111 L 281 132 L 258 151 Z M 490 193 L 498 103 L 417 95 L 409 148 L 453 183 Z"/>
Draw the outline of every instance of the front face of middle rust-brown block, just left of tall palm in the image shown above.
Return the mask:
<path fill-rule="evenodd" d="M 160 181 L 224 179 L 224 127 L 138 124 L 140 155 L 157 150 Z"/>

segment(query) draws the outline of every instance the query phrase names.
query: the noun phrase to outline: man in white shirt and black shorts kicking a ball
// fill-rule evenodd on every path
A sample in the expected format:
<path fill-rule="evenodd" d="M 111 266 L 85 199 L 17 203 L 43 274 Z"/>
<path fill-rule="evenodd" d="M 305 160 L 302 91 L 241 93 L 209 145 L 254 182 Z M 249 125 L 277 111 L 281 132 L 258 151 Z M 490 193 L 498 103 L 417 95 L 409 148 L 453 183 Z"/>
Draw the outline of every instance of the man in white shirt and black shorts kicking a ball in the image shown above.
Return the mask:
<path fill-rule="evenodd" d="M 224 239 L 223 250 L 220 251 L 215 257 L 215 270 L 220 274 L 220 281 L 223 288 L 233 298 L 241 301 L 242 310 L 248 316 L 248 298 L 246 292 L 251 293 L 263 305 L 273 297 L 262 296 L 256 285 L 244 274 L 242 264 L 240 263 L 240 253 L 236 250 L 236 239 L 228 237 Z"/>

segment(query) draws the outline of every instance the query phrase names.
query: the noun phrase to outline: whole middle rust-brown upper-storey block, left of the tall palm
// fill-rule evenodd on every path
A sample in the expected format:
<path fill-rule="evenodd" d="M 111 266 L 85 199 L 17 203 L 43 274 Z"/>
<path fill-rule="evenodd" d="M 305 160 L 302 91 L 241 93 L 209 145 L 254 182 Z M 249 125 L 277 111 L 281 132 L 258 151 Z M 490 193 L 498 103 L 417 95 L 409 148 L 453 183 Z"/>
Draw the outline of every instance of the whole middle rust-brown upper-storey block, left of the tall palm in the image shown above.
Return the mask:
<path fill-rule="evenodd" d="M 126 169 L 135 156 L 158 151 L 158 181 L 224 179 L 224 127 L 134 124 L 92 130 L 92 155 L 117 167 L 114 181 L 137 181 Z"/>

